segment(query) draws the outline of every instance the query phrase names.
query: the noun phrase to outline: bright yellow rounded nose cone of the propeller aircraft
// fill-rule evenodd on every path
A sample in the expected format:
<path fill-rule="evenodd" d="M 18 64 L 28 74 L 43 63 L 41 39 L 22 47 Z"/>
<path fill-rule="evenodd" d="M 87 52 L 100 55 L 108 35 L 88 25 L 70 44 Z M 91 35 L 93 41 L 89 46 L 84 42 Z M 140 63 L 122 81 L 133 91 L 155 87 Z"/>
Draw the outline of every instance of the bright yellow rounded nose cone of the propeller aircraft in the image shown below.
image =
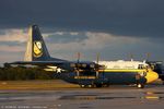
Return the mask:
<path fill-rule="evenodd" d="M 147 78 L 147 83 L 152 83 L 159 78 L 159 74 L 156 72 L 149 71 L 147 73 L 145 78 Z"/>

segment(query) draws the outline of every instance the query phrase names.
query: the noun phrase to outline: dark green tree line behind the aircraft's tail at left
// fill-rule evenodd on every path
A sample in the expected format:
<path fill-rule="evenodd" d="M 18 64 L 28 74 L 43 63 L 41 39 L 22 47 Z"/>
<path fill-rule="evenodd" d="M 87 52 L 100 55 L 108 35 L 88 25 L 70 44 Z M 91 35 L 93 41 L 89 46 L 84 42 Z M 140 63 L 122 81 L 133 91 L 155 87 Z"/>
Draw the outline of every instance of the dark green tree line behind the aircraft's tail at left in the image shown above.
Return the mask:
<path fill-rule="evenodd" d="M 0 68 L 0 81 L 21 80 L 54 80 L 55 72 L 47 72 L 42 68 L 4 66 Z"/>

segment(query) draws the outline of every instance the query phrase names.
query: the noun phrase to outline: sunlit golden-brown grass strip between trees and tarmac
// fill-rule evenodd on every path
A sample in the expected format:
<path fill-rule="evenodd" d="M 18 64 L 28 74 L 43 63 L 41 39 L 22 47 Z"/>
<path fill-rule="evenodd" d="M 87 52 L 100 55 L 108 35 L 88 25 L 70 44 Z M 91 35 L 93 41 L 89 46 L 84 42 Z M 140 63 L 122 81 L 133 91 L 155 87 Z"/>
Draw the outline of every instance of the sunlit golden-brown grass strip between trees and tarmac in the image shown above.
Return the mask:
<path fill-rule="evenodd" d="M 77 88 L 79 85 L 69 84 L 60 80 L 44 81 L 0 81 L 0 89 L 57 89 Z"/>

